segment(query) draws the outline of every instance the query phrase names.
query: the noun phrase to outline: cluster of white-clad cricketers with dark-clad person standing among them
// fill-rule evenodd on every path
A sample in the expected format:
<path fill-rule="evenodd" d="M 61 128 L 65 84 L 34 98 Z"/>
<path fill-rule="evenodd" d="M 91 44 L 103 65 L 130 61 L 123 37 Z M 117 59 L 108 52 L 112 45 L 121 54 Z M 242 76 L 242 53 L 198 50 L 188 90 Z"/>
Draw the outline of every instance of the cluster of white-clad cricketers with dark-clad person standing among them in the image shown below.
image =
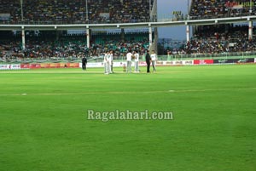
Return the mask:
<path fill-rule="evenodd" d="M 131 50 L 128 51 L 126 54 L 126 72 L 131 73 L 131 60 L 134 60 L 134 72 L 139 72 L 139 54 L 138 51 L 135 50 L 131 52 Z M 147 63 L 147 72 L 150 72 L 150 64 L 153 66 L 154 72 L 156 71 L 156 60 L 157 60 L 157 55 L 154 53 L 154 50 L 152 51 L 151 54 L 149 54 L 149 51 L 146 50 L 146 63 Z M 105 74 L 110 74 L 113 73 L 113 51 L 107 51 L 104 54 L 104 73 Z"/>

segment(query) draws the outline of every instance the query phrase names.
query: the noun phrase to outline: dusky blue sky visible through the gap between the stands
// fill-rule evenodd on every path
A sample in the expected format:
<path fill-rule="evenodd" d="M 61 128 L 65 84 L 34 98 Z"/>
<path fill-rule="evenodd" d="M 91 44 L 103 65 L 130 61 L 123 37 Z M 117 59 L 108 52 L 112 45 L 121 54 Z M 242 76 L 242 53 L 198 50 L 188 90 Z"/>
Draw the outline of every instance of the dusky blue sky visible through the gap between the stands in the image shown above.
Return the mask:
<path fill-rule="evenodd" d="M 157 0 L 159 18 L 172 17 L 172 11 L 182 11 L 188 14 L 188 0 Z M 160 38 L 186 39 L 185 26 L 159 28 Z"/>

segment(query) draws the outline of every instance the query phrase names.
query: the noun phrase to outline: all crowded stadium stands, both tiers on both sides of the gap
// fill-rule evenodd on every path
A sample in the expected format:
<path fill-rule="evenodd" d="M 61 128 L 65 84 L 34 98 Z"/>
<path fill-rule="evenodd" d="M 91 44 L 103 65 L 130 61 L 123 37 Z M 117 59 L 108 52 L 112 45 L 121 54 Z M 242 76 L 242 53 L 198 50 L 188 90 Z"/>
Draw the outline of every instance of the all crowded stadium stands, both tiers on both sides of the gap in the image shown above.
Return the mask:
<path fill-rule="evenodd" d="M 153 5 L 154 1 L 151 1 Z M 243 5 L 243 8 L 239 5 Z M 212 19 L 221 17 L 243 16 L 255 14 L 254 5 L 241 0 L 192 0 L 190 19 Z M 23 0 L 22 10 L 20 1 L 3 0 L 0 4 L 0 23 L 35 23 L 35 24 L 77 24 L 77 23 L 126 23 L 149 20 L 148 1 L 137 0 L 88 0 L 88 20 L 84 0 L 63 1 L 33 1 Z M 252 9 L 252 13 L 250 13 Z M 177 54 L 222 54 L 230 52 L 254 51 L 254 40 L 247 39 L 247 26 L 198 26 L 194 37 L 183 44 L 183 48 L 172 52 Z M 81 58 L 84 51 L 90 55 L 101 55 L 112 49 L 115 56 L 125 54 L 131 49 L 139 52 L 148 48 L 148 31 L 130 32 L 122 37 L 121 33 L 93 32 L 90 37 L 91 47 L 86 47 L 86 35 L 61 33 L 39 35 L 26 31 L 26 49 L 21 49 L 20 34 L 10 32 L 0 33 L 0 49 L 2 58 Z M 7 36 L 7 37 L 5 37 Z M 170 48 L 170 47 L 169 47 Z M 168 49 L 169 49 L 168 48 Z M 167 49 L 166 49 L 167 50 Z"/>

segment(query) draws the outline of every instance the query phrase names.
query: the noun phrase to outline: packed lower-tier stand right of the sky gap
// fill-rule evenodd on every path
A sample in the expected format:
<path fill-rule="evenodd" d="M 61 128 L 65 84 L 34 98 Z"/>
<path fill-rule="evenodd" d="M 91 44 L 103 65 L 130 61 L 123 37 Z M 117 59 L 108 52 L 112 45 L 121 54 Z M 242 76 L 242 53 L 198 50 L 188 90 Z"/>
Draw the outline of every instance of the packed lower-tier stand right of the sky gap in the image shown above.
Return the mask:
<path fill-rule="evenodd" d="M 248 40 L 247 26 L 201 26 L 179 54 L 223 54 L 256 51 L 256 41 Z M 177 51 L 172 53 L 177 54 Z"/>

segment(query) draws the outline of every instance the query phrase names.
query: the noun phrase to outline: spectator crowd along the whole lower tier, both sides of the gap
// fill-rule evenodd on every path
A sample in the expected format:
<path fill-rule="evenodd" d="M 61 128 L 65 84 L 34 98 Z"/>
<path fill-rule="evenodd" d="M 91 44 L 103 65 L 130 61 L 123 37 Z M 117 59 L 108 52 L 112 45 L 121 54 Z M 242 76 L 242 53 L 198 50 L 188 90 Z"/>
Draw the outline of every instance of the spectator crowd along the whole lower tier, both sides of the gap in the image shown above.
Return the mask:
<path fill-rule="evenodd" d="M 181 48 L 167 47 L 172 54 L 223 54 L 256 51 L 256 41 L 248 40 L 247 26 L 201 26 L 194 37 Z M 90 48 L 87 48 L 85 35 L 67 35 L 60 37 L 26 35 L 26 48 L 22 50 L 20 36 L 0 40 L 0 57 L 4 58 L 40 58 L 49 59 L 74 57 L 81 59 L 84 55 L 101 56 L 113 50 L 114 57 L 125 56 L 129 50 L 143 54 L 149 47 L 148 32 L 93 33 Z"/>

